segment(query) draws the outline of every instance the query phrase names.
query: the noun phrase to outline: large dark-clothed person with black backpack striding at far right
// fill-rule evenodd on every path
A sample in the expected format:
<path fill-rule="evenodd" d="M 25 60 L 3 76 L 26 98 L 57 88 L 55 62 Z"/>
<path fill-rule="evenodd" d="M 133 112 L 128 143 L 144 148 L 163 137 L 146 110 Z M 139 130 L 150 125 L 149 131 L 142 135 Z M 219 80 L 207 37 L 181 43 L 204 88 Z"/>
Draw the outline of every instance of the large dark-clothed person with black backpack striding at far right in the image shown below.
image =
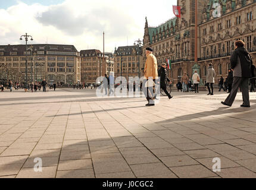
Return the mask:
<path fill-rule="evenodd" d="M 233 69 L 233 84 L 232 91 L 224 102 L 225 106 L 232 106 L 238 93 L 238 88 L 241 87 L 243 104 L 241 107 L 250 107 L 249 102 L 249 78 L 252 75 L 252 58 L 248 50 L 245 49 L 245 43 L 238 40 L 235 43 L 235 51 L 230 57 L 230 67 Z"/>

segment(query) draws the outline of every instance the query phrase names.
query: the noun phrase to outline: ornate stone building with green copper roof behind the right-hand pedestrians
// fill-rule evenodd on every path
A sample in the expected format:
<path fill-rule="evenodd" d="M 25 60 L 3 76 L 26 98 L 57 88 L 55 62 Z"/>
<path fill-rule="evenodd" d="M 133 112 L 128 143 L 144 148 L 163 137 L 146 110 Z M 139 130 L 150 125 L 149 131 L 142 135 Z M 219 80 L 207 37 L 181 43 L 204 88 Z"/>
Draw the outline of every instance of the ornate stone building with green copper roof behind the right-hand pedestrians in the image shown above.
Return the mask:
<path fill-rule="evenodd" d="M 213 17 L 213 4 L 221 6 L 221 17 Z M 217 80 L 227 74 L 229 56 L 235 40 L 242 39 L 246 48 L 255 58 L 256 53 L 256 1 L 235 0 L 198 0 L 198 62 L 195 63 L 195 0 L 177 0 L 182 7 L 181 19 L 172 18 L 158 27 L 149 27 L 145 23 L 143 39 L 143 65 L 145 49 L 152 47 L 158 65 L 171 60 L 169 77 L 174 84 L 186 72 L 192 78 L 195 64 L 205 81 L 207 64 L 212 62 L 217 73 Z M 236 24 L 238 23 L 238 24 Z M 256 60 L 255 60 L 256 61 Z M 142 65 L 142 70 L 143 70 Z M 143 72 L 143 71 L 142 71 Z M 203 84 L 203 83 L 202 83 Z"/>

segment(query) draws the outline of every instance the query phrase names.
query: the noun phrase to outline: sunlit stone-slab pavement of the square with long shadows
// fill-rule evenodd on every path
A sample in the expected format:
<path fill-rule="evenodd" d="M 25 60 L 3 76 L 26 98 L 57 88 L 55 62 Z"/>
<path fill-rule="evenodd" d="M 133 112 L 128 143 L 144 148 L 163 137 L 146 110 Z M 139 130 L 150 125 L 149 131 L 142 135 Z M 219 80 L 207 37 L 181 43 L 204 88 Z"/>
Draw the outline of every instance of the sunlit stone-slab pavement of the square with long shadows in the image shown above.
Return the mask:
<path fill-rule="evenodd" d="M 256 93 L 251 108 L 240 107 L 241 93 L 233 107 L 220 104 L 226 93 L 173 95 L 145 107 L 87 89 L 0 93 L 0 176 L 255 178 Z"/>

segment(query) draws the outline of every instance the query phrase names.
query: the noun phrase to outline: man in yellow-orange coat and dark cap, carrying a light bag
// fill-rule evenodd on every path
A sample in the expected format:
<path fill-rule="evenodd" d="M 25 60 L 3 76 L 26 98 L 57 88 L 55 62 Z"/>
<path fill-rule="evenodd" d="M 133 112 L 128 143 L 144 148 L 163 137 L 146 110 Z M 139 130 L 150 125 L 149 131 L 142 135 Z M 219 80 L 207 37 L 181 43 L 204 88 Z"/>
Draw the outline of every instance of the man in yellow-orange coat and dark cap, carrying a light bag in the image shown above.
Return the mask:
<path fill-rule="evenodd" d="M 146 106 L 155 106 L 154 88 L 156 79 L 158 79 L 157 58 L 153 55 L 153 50 L 150 47 L 147 47 L 143 83 L 143 93 L 146 96 L 146 100 L 148 100 Z"/>

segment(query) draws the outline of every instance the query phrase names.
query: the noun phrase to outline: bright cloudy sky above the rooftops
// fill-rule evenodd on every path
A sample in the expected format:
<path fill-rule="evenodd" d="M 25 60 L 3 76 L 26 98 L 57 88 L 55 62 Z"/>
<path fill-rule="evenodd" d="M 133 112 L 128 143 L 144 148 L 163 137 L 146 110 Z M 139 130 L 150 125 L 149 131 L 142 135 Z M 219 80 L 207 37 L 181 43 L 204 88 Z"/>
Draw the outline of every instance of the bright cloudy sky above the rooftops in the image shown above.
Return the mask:
<path fill-rule="evenodd" d="M 74 45 L 77 50 L 133 45 L 143 39 L 145 17 L 149 26 L 173 18 L 176 0 L 0 0 L 0 45 L 33 43 Z M 29 42 L 32 43 L 32 42 Z"/>

